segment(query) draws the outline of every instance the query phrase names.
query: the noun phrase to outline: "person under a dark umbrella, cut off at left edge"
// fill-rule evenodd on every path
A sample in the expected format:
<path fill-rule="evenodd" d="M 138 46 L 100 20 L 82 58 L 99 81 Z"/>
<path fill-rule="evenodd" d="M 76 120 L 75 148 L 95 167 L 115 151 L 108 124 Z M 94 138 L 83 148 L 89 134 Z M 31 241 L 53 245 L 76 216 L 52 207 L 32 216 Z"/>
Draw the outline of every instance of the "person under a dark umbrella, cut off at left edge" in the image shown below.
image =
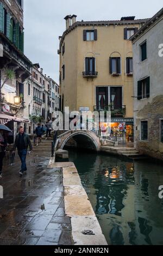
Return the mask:
<path fill-rule="evenodd" d="M 11 130 L 7 126 L 0 125 L 0 179 L 2 179 L 3 159 L 5 157 L 5 148 L 7 147 L 7 141 L 4 136 L 4 131 L 11 132 Z"/>

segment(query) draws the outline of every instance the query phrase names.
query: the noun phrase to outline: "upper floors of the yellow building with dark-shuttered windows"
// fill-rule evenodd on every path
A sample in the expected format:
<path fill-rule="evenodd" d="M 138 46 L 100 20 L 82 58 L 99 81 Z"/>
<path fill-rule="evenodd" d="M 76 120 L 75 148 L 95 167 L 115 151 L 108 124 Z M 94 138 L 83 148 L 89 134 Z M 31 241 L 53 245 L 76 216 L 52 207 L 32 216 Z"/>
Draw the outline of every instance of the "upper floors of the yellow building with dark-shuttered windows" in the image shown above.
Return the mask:
<path fill-rule="evenodd" d="M 61 106 L 110 110 L 112 123 L 133 123 L 133 50 L 129 40 L 147 20 L 76 21 L 59 37 Z"/>

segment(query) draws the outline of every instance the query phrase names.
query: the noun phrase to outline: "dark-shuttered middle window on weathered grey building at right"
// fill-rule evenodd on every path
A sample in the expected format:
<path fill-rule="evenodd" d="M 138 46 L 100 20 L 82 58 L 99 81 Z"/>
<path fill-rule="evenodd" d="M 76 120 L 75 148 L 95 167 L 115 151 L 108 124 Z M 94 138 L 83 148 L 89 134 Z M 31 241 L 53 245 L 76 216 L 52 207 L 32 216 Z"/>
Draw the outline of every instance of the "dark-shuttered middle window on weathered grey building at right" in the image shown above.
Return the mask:
<path fill-rule="evenodd" d="M 150 77 L 137 82 L 137 100 L 150 96 Z"/>

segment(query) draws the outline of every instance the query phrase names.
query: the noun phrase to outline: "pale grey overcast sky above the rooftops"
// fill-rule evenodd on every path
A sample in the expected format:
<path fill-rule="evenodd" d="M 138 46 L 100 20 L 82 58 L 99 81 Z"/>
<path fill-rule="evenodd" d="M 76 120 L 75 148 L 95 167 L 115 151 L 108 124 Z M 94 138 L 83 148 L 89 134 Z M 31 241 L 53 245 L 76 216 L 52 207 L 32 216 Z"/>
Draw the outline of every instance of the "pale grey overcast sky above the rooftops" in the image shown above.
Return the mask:
<path fill-rule="evenodd" d="M 24 0 L 24 54 L 58 83 L 58 36 L 65 31 L 66 15 L 76 14 L 77 21 L 119 20 L 122 16 L 145 19 L 162 5 L 162 0 Z"/>

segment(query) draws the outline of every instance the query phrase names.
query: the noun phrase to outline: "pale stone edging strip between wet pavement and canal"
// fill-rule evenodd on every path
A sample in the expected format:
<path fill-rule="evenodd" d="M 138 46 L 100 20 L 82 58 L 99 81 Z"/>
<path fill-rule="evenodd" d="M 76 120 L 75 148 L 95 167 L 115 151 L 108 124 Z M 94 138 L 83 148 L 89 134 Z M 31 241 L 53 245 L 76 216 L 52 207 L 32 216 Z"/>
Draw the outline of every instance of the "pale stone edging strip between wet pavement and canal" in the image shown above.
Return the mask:
<path fill-rule="evenodd" d="M 107 245 L 92 205 L 75 167 L 64 167 L 65 213 L 71 217 L 74 245 Z M 93 235 L 82 231 L 91 230 Z"/>

